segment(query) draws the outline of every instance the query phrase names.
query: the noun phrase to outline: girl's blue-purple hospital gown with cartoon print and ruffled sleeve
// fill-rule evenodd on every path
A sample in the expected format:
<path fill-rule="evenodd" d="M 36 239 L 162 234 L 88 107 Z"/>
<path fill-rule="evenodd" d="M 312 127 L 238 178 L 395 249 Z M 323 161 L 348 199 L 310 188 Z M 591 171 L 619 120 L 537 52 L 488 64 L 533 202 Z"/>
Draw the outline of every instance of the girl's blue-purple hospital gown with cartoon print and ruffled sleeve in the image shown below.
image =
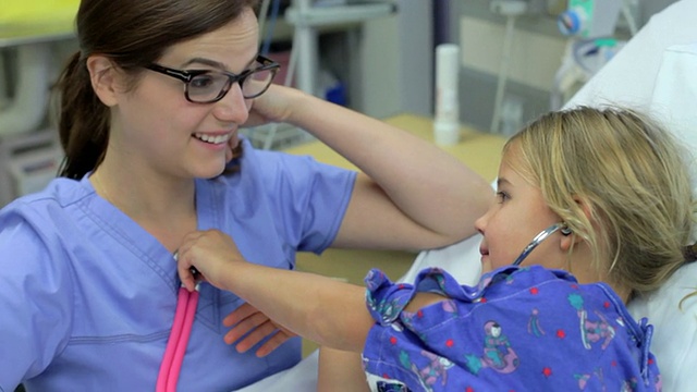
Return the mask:
<path fill-rule="evenodd" d="M 372 270 L 366 284 L 376 324 L 363 363 L 374 391 L 660 390 L 651 327 L 604 283 L 536 266 L 499 269 L 476 286 L 438 268 L 415 285 Z M 405 311 L 415 292 L 447 298 Z"/>

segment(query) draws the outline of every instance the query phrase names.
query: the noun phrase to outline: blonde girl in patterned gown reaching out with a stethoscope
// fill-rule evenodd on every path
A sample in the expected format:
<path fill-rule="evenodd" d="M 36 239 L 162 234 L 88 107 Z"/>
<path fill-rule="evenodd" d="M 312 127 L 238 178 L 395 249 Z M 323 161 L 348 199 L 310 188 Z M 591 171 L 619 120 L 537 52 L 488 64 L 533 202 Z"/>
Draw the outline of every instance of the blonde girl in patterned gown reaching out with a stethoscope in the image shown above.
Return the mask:
<path fill-rule="evenodd" d="M 362 352 L 378 391 L 660 390 L 652 327 L 625 304 L 684 262 L 693 198 L 670 134 L 631 111 L 549 113 L 508 142 L 497 198 L 476 222 L 476 286 L 374 270 L 366 293 L 244 262 L 216 231 L 185 238 L 179 272 L 192 289 L 195 266 L 292 331 Z"/>

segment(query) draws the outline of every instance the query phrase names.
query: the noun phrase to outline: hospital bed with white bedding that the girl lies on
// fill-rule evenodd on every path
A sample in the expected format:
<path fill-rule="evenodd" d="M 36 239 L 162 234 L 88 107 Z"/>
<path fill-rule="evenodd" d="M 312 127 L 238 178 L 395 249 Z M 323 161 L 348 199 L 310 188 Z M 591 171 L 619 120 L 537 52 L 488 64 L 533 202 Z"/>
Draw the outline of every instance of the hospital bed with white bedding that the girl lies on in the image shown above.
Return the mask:
<path fill-rule="evenodd" d="M 697 0 L 681 0 L 656 14 L 602 70 L 566 105 L 621 105 L 648 111 L 663 121 L 680 139 L 697 151 Z M 693 189 L 697 194 L 697 163 L 693 164 Z M 693 236 L 695 240 L 695 236 Z M 462 283 L 476 282 L 480 273 L 478 235 L 445 248 L 420 253 L 402 278 L 438 266 Z M 655 326 L 651 350 L 661 368 L 663 390 L 695 391 L 697 369 L 697 262 L 677 270 L 648 298 L 636 299 L 629 310 L 648 317 Z M 317 353 L 294 368 L 245 388 L 256 391 L 314 391 Z"/>

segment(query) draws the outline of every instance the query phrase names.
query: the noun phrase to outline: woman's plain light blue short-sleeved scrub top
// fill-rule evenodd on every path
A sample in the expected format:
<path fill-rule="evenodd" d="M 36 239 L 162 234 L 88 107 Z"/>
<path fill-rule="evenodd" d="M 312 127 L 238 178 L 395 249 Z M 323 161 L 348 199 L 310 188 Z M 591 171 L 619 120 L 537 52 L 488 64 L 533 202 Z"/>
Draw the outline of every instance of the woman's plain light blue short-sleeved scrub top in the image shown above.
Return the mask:
<path fill-rule="evenodd" d="M 198 229 L 292 269 L 296 250 L 332 243 L 356 174 L 243 144 L 237 173 L 196 181 Z M 0 228 L 0 391 L 154 391 L 180 287 L 172 255 L 87 176 L 8 205 Z M 231 391 L 301 359 L 297 338 L 264 358 L 227 345 L 222 318 L 241 304 L 203 284 L 181 391 Z"/>

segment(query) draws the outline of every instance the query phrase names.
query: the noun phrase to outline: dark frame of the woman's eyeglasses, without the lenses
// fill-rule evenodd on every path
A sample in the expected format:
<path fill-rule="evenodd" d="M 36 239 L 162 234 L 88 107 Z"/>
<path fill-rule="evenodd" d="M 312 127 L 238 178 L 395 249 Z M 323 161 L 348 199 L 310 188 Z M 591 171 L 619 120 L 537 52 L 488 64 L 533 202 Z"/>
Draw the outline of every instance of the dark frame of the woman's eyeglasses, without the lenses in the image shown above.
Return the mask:
<path fill-rule="evenodd" d="M 148 65 L 145 65 L 144 68 L 184 82 L 184 97 L 186 98 L 187 101 L 192 103 L 215 103 L 223 99 L 225 95 L 228 95 L 228 91 L 230 91 L 230 88 L 234 83 L 239 83 L 240 87 L 242 87 L 242 83 L 246 81 L 247 77 L 254 75 L 259 71 L 271 71 L 272 72 L 271 81 L 261 91 L 250 97 L 245 97 L 243 91 L 243 97 L 245 99 L 254 99 L 260 96 L 261 94 L 266 93 L 267 89 L 269 89 L 269 86 L 271 86 L 271 83 L 273 82 L 273 77 L 276 76 L 277 72 L 281 69 L 281 64 L 261 54 L 257 54 L 255 61 L 260 63 L 261 66 L 243 71 L 241 74 L 234 74 L 232 72 L 222 71 L 222 70 L 176 70 L 176 69 L 163 66 L 157 63 L 150 63 Z M 188 96 L 188 84 L 194 79 L 194 77 L 198 75 L 204 75 L 210 72 L 216 72 L 216 73 L 220 73 L 228 76 L 228 83 L 223 85 L 222 89 L 218 93 L 218 96 L 216 96 L 216 98 L 213 99 L 206 100 L 206 101 L 192 100 L 191 97 Z"/>

